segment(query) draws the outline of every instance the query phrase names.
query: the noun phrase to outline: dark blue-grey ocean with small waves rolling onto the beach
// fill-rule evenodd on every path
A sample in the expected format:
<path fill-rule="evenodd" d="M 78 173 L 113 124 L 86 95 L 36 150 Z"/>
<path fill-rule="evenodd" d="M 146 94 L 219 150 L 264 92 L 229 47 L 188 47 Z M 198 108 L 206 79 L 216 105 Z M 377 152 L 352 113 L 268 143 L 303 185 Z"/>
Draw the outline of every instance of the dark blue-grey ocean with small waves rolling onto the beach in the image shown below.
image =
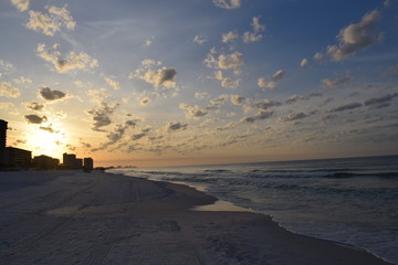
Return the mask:
<path fill-rule="evenodd" d="M 108 171 L 196 187 L 398 264 L 398 156 Z"/>

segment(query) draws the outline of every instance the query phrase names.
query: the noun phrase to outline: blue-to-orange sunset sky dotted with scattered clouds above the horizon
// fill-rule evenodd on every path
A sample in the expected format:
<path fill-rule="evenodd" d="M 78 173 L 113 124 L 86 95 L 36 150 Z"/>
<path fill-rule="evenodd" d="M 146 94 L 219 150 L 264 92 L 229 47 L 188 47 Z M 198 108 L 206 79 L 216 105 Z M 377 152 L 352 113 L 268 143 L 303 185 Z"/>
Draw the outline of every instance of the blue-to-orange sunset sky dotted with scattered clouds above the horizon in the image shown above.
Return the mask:
<path fill-rule="evenodd" d="M 396 0 L 0 0 L 8 146 L 95 166 L 398 153 Z"/>

